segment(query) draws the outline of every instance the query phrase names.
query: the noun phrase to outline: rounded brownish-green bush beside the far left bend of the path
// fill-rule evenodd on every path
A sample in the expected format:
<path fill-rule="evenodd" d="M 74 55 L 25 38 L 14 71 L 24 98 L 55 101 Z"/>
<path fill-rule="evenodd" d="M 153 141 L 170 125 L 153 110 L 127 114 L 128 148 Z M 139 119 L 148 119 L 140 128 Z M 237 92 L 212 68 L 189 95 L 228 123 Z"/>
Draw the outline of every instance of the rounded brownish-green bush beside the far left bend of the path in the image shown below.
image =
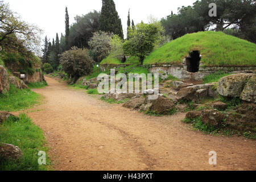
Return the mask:
<path fill-rule="evenodd" d="M 87 49 L 72 47 L 60 57 L 60 64 L 69 77 L 77 80 L 80 76 L 89 75 L 93 69 L 94 61 L 88 55 Z"/>

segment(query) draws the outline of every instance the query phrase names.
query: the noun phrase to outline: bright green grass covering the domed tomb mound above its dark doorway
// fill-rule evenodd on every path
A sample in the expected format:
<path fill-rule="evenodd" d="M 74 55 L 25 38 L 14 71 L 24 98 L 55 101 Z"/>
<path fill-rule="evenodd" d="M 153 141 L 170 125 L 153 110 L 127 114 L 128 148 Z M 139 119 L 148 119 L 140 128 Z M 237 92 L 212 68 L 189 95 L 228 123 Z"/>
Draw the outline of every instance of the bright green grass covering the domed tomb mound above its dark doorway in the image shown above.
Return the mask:
<path fill-rule="evenodd" d="M 256 66 L 256 45 L 223 32 L 187 34 L 156 49 L 144 64 L 182 63 L 189 52 L 199 50 L 206 66 Z"/>

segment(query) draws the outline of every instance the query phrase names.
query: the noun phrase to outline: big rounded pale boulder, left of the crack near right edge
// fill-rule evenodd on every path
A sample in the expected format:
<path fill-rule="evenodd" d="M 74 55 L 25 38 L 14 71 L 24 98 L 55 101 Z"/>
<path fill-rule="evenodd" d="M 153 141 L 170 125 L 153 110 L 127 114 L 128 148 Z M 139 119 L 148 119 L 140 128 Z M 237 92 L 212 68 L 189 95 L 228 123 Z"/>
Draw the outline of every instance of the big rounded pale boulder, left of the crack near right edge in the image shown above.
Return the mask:
<path fill-rule="evenodd" d="M 225 97 L 240 97 L 247 80 L 252 76 L 254 76 L 253 73 L 240 73 L 225 76 L 218 81 L 217 92 Z"/>

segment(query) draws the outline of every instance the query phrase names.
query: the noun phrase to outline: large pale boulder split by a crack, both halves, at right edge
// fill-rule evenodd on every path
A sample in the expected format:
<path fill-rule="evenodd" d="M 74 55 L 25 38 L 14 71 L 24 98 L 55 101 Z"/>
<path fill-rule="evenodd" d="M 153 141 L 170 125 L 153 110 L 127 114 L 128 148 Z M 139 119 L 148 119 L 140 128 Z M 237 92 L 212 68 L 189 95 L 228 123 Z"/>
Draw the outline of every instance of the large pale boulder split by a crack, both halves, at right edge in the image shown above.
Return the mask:
<path fill-rule="evenodd" d="M 244 101 L 256 102 L 256 76 L 240 73 L 223 77 L 218 81 L 217 92 L 225 97 L 240 97 Z"/>

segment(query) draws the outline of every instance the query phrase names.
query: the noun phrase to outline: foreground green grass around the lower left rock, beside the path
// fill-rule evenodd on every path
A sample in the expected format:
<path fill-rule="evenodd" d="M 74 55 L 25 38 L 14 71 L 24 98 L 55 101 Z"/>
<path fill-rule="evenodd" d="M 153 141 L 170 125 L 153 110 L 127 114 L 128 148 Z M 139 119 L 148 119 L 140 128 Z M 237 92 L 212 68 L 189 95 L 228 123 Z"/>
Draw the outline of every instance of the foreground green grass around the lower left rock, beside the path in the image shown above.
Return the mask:
<path fill-rule="evenodd" d="M 0 143 L 10 143 L 18 146 L 23 152 L 19 162 L 0 158 L 0 171 L 43 171 L 47 166 L 38 164 L 39 151 L 48 151 L 43 131 L 26 114 L 20 114 L 18 121 L 9 118 L 0 125 Z M 47 164 L 50 164 L 47 158 Z"/>

